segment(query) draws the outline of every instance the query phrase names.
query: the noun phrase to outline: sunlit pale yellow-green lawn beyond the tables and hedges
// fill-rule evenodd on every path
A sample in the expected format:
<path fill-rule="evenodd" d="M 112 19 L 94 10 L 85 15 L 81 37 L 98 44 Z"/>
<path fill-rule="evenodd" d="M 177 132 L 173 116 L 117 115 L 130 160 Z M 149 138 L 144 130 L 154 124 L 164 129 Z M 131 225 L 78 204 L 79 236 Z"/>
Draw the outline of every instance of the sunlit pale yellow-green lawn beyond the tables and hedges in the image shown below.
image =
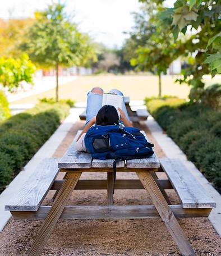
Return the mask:
<path fill-rule="evenodd" d="M 188 85 L 179 85 L 174 83 L 176 76 L 162 77 L 162 95 L 175 95 L 179 98 L 188 98 L 190 87 Z M 101 86 L 105 92 L 116 88 L 124 95 L 130 96 L 131 100 L 140 100 L 145 97 L 157 96 L 158 76 L 115 76 L 115 75 L 97 75 L 80 76 L 76 80 L 59 86 L 59 99 L 72 99 L 75 102 L 85 102 L 86 95 L 94 86 Z M 55 97 L 55 88 L 44 93 L 31 95 L 13 104 L 19 103 L 38 103 L 39 98 Z"/>

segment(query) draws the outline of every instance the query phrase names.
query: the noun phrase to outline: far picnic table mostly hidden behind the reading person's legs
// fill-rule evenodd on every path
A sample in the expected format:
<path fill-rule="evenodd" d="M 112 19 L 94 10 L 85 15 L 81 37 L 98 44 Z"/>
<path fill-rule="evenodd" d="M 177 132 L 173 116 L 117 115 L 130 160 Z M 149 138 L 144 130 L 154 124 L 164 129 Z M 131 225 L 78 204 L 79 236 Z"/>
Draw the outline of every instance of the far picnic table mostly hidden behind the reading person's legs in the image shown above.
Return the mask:
<path fill-rule="evenodd" d="M 125 97 L 125 105 L 131 122 L 145 121 L 148 118 L 149 113 L 145 108 L 139 108 L 136 111 L 131 109 L 130 97 Z M 86 120 L 86 109 L 79 115 L 79 117 L 82 121 Z"/>

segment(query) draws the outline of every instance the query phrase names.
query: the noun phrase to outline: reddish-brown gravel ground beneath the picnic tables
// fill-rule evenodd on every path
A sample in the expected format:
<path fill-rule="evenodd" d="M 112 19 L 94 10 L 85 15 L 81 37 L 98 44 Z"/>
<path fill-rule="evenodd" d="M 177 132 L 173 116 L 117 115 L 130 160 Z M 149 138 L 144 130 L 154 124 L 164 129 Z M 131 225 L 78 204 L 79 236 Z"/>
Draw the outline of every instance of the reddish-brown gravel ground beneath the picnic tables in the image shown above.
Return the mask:
<path fill-rule="evenodd" d="M 77 130 L 84 122 L 72 126 L 53 157 L 62 157 Z M 155 144 L 157 156 L 166 157 L 145 124 L 140 126 Z M 62 177 L 62 173 L 59 174 Z M 105 179 L 106 173 L 84 173 L 82 179 Z M 159 174 L 162 175 L 162 174 Z M 122 174 L 117 173 L 121 179 Z M 136 179 L 128 173 L 128 179 Z M 44 200 L 52 203 L 53 191 Z M 172 203 L 178 198 L 167 190 Z M 105 190 L 79 190 L 72 194 L 68 204 L 102 205 L 107 202 Z M 116 190 L 114 204 L 151 204 L 145 190 Z M 43 221 L 11 220 L 0 234 L 0 255 L 26 255 Z M 179 219 L 179 224 L 195 249 L 196 255 L 221 255 L 221 240 L 208 218 Z M 130 220 L 60 220 L 41 255 L 182 255 L 160 218 Z"/>

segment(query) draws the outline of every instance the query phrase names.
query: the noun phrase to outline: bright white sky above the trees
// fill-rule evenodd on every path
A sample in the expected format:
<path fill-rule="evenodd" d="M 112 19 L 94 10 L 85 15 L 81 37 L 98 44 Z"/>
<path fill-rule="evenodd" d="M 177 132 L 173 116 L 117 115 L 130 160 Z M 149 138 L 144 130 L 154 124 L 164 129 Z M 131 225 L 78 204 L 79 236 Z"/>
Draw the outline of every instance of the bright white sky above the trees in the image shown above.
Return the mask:
<path fill-rule="evenodd" d="M 58 0 L 66 12 L 74 15 L 81 32 L 89 33 L 95 42 L 120 48 L 134 24 L 131 12 L 138 12 L 138 0 Z M 0 0 L 0 18 L 25 18 L 36 10 L 45 10 L 51 0 Z"/>

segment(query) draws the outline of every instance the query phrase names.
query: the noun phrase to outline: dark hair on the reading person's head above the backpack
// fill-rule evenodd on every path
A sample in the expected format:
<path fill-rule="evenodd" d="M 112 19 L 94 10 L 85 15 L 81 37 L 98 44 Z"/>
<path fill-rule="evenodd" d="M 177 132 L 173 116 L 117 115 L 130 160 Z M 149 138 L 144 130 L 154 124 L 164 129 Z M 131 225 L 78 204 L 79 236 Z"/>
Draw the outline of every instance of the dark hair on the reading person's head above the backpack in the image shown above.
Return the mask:
<path fill-rule="evenodd" d="M 111 105 L 104 105 L 96 115 L 96 125 L 118 125 L 117 109 Z"/>

